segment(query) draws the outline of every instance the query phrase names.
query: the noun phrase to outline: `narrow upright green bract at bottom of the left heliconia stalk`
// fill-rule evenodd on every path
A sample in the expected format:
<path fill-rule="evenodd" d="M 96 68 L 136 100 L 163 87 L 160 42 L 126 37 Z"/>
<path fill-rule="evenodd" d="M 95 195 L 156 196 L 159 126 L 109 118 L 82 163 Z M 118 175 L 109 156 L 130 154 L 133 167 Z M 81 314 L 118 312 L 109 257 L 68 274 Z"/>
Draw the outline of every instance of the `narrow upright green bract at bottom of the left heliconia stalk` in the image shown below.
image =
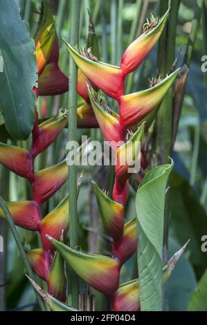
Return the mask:
<path fill-rule="evenodd" d="M 64 275 L 64 259 L 60 252 L 55 252 L 53 265 L 47 279 L 48 293 L 61 301 L 66 301 L 66 277 Z"/>

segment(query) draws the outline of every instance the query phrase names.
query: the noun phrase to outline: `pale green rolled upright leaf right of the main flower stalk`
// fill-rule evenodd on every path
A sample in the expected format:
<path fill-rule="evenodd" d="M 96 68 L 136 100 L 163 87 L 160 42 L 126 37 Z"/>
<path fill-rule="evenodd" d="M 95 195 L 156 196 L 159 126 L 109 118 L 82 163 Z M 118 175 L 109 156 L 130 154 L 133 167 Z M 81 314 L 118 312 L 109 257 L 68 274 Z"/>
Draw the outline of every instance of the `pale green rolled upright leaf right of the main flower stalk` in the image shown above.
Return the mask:
<path fill-rule="evenodd" d="M 136 194 L 141 310 L 161 311 L 165 188 L 173 164 L 152 169 Z"/>

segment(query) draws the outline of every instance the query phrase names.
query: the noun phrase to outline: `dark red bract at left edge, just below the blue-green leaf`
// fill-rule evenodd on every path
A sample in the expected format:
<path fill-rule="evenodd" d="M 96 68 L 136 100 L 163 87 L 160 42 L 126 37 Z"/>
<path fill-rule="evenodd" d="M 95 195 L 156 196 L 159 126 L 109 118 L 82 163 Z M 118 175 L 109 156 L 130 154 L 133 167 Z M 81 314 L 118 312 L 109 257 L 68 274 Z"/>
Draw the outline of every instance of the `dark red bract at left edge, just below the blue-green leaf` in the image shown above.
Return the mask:
<path fill-rule="evenodd" d="M 29 151 L 0 142 L 0 163 L 15 174 L 33 180 L 33 160 Z"/>

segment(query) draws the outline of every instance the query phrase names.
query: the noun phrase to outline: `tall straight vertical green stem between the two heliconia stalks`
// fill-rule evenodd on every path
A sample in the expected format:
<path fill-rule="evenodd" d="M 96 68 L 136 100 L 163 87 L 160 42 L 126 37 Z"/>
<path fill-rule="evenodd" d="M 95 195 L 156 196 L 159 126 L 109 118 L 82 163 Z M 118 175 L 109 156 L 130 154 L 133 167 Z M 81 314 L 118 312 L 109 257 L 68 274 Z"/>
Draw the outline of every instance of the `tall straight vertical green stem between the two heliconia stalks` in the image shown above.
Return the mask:
<path fill-rule="evenodd" d="M 71 0 L 71 45 L 75 46 L 79 42 L 80 26 L 80 0 Z M 77 140 L 77 81 L 78 68 L 70 56 L 69 62 L 69 141 Z M 69 166 L 69 216 L 70 216 L 70 246 L 78 246 L 78 216 L 77 216 L 77 170 L 76 165 Z M 79 284 L 78 276 L 75 272 L 71 275 L 71 295 L 72 305 L 78 308 Z"/>

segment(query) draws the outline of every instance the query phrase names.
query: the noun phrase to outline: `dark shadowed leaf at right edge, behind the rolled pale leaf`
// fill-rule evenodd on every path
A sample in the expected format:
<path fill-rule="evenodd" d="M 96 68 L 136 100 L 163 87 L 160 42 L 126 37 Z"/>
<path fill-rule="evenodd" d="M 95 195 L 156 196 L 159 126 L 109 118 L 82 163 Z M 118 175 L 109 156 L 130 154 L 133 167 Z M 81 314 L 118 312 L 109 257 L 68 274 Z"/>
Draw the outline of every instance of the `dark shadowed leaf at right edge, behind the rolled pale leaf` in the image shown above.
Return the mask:
<path fill-rule="evenodd" d="M 183 245 L 190 239 L 189 259 L 200 278 L 207 268 L 206 254 L 201 251 L 201 237 L 207 229 L 207 216 L 194 189 L 187 180 L 175 173 L 170 185 L 170 210 L 172 230 L 179 244 Z"/>

